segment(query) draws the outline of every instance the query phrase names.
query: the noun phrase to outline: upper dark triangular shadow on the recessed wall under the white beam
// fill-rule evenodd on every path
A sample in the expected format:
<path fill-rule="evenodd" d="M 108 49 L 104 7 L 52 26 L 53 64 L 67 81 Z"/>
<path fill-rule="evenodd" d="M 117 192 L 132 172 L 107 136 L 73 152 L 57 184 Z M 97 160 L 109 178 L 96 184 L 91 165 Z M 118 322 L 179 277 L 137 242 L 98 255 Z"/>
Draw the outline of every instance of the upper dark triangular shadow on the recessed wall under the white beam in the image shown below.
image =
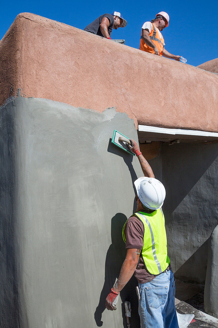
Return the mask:
<path fill-rule="evenodd" d="M 173 213 L 217 156 L 217 143 L 180 143 L 170 146 L 164 143 L 162 145 L 163 184 L 167 191 L 163 206 L 165 214 Z M 211 177 L 211 180 L 213 179 L 216 179 L 216 176 Z"/>

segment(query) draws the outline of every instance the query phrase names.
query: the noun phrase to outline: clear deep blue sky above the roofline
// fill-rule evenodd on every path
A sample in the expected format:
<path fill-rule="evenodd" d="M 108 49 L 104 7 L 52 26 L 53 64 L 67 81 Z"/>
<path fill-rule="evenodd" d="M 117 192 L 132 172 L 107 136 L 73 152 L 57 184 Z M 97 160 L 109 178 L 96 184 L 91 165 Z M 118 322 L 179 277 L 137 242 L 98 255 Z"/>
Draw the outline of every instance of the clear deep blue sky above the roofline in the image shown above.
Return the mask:
<path fill-rule="evenodd" d="M 127 20 L 125 28 L 112 31 L 112 38 L 139 47 L 141 27 L 159 11 L 170 15 L 169 27 L 163 31 L 167 51 L 187 58 L 187 64 L 200 65 L 218 57 L 215 25 L 218 1 L 2 1 L 0 39 L 20 12 L 31 12 L 79 29 L 103 13 L 120 11 Z"/>

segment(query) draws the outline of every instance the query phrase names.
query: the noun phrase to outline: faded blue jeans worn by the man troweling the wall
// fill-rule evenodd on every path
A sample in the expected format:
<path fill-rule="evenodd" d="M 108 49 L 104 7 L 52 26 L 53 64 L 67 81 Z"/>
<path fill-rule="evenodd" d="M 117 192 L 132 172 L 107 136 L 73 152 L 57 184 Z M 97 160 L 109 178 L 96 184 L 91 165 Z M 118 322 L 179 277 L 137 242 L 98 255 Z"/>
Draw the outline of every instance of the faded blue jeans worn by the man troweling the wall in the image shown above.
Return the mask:
<path fill-rule="evenodd" d="M 138 284 L 141 328 L 179 328 L 175 310 L 175 279 L 171 270 Z"/>

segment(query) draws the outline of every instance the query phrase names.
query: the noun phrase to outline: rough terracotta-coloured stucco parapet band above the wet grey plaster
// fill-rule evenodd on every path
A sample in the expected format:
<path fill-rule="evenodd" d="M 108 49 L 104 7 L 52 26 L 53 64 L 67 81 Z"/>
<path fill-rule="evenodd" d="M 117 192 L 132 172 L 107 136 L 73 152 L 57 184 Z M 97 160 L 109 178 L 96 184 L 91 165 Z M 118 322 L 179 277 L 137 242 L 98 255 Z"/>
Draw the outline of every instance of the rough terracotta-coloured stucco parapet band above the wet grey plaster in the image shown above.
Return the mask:
<path fill-rule="evenodd" d="M 137 124 L 218 131 L 218 76 L 30 13 L 0 42 L 0 104 L 47 98 Z"/>

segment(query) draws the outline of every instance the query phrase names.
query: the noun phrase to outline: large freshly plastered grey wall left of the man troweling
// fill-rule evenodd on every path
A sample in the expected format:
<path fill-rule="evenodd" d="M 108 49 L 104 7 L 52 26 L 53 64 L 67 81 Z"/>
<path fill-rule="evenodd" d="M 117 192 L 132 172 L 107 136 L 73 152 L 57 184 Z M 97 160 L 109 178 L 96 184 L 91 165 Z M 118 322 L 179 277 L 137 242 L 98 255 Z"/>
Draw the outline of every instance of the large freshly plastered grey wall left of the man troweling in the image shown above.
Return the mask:
<path fill-rule="evenodd" d="M 0 114 L 0 326 L 121 327 L 121 300 L 130 300 L 138 327 L 134 277 L 118 310 L 105 310 L 142 175 L 110 138 L 117 129 L 137 139 L 134 121 L 114 108 L 22 97 Z"/>

